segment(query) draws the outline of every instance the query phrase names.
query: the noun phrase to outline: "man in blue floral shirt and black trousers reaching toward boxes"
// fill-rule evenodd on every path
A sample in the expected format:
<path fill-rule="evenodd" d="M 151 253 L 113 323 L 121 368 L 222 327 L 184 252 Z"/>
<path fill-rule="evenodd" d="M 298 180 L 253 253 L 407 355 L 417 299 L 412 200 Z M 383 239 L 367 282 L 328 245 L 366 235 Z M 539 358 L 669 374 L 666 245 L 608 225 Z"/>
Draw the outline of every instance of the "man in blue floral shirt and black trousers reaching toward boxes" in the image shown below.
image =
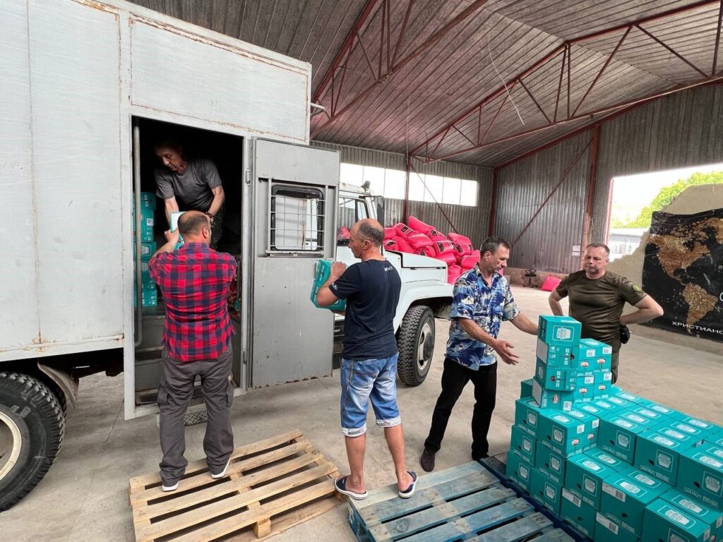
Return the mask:
<path fill-rule="evenodd" d="M 463 273 L 454 286 L 442 393 L 437 399 L 432 427 L 419 460 L 427 472 L 435 468 L 435 454 L 442 446 L 450 414 L 470 380 L 474 384 L 476 401 L 472 414 L 472 459 L 478 461 L 487 457 L 487 431 L 497 394 L 495 353 L 505 364 L 518 363 L 518 356 L 511 350 L 513 345 L 497 339 L 500 324 L 509 320 L 518 330 L 537 334 L 537 325 L 518 310 L 510 283 L 500 275 L 510 257 L 509 244 L 502 238 L 490 237 L 482 243 L 479 252 L 479 262 L 474 269 Z"/>

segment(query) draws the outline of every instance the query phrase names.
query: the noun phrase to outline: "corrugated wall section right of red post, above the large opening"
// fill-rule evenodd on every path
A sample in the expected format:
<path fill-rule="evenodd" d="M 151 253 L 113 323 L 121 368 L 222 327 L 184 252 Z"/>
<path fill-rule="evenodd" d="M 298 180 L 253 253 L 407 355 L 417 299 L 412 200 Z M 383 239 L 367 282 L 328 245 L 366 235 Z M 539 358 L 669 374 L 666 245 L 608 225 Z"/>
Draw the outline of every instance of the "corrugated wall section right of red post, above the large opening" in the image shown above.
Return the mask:
<path fill-rule="evenodd" d="M 669 95 L 600 127 L 591 239 L 604 238 L 615 176 L 723 162 L 723 85 Z"/>

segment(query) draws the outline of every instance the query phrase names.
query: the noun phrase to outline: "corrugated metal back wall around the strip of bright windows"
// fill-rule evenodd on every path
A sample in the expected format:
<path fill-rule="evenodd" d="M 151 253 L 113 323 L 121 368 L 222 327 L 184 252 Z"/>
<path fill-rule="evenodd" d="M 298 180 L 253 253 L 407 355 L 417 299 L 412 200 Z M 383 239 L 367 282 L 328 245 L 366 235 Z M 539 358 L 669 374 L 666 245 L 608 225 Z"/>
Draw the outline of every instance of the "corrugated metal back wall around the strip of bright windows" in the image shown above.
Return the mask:
<path fill-rule="evenodd" d="M 341 161 L 357 165 L 372 165 L 377 168 L 406 170 L 406 158 L 395 152 L 348 147 L 346 145 L 333 145 L 331 143 L 312 141 L 315 147 L 338 150 L 341 152 Z M 489 220 L 489 205 L 492 192 L 492 170 L 480 168 L 476 165 L 467 165 L 455 162 L 436 162 L 427 166 L 415 163 L 414 167 L 419 173 L 466 178 L 479 182 L 477 192 L 477 205 L 466 207 L 462 205 L 449 205 L 427 202 L 409 202 L 409 214 L 419 218 L 427 224 L 439 228 L 442 233 L 455 229 L 458 233 L 471 238 L 475 245 L 482 244 L 487 237 L 487 223 Z M 414 175 L 414 172 L 412 172 Z M 404 202 L 402 199 L 385 199 L 385 225 L 392 225 L 403 218 Z M 443 211 L 443 212 L 442 212 Z M 449 221 L 445 218 L 448 216 Z M 450 225 L 450 222 L 453 224 Z"/>

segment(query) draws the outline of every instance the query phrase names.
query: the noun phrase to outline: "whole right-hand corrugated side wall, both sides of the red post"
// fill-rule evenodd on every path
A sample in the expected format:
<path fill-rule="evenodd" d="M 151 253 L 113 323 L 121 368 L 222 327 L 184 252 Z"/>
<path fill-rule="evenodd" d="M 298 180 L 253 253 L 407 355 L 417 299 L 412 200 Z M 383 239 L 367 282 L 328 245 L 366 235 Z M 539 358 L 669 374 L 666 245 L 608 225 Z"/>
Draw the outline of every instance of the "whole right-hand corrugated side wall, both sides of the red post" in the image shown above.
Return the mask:
<path fill-rule="evenodd" d="M 723 85 L 669 95 L 602 124 L 591 241 L 604 241 L 610 181 L 615 176 L 723 162 Z M 591 139 L 584 132 L 497 172 L 495 233 L 513 241 Z M 510 256 L 511 267 L 579 269 L 590 150 L 550 199 Z"/>

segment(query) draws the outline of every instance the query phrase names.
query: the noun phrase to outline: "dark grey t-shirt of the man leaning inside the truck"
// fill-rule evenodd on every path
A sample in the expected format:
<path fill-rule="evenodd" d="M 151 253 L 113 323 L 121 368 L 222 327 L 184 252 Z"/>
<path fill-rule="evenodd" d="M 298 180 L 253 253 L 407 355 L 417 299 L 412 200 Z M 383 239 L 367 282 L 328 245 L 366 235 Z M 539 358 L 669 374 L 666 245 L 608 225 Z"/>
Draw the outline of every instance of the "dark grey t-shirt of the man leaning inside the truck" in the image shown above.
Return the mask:
<path fill-rule="evenodd" d="M 189 160 L 183 175 L 165 167 L 156 168 L 155 184 L 155 194 L 161 199 L 176 197 L 184 204 L 183 210 L 206 212 L 213 201 L 211 189 L 221 186 L 221 177 L 211 160 L 200 158 Z"/>

